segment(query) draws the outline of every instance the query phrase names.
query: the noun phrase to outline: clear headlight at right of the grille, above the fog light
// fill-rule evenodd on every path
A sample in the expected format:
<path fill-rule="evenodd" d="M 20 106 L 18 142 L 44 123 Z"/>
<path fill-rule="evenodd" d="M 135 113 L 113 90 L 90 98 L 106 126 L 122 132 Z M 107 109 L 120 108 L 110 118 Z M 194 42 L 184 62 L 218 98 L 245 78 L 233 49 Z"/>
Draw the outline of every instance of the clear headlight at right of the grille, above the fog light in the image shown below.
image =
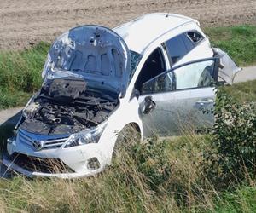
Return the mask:
<path fill-rule="evenodd" d="M 97 143 L 100 140 L 103 130 L 105 130 L 107 123 L 98 125 L 95 129 L 85 130 L 77 134 L 73 134 L 67 140 L 65 148 L 75 147 L 89 143 Z"/>

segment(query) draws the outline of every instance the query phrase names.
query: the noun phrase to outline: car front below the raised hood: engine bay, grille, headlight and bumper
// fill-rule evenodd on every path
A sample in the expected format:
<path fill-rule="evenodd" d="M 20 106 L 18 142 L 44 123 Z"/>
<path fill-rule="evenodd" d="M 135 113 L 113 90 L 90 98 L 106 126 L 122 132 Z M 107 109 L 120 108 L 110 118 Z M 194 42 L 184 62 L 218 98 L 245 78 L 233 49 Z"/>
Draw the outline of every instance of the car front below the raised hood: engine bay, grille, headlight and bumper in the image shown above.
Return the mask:
<path fill-rule="evenodd" d="M 117 95 L 86 88 L 80 78 L 44 83 L 8 140 L 3 164 L 26 176 L 87 176 L 103 169 L 98 141 Z M 86 146 L 84 146 L 86 145 Z"/>

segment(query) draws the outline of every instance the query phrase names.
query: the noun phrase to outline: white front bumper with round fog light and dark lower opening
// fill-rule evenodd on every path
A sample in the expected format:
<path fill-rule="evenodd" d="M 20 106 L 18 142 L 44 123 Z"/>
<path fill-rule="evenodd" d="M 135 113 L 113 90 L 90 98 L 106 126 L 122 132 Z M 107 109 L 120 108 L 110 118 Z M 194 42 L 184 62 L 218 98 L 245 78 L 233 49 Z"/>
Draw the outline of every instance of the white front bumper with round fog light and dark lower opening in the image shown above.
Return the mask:
<path fill-rule="evenodd" d="M 35 151 L 30 143 L 22 140 L 20 140 L 18 134 L 14 140 L 8 141 L 7 150 L 9 154 L 3 155 L 3 164 L 9 170 L 15 170 L 25 176 L 53 176 L 60 178 L 93 176 L 101 172 L 111 161 L 108 149 L 98 143 L 69 148 L 65 148 L 65 144 L 63 144 L 61 147 Z M 33 158 L 33 162 L 36 162 L 35 166 L 28 168 L 27 165 L 30 162 L 27 159 L 24 160 L 24 158 Z M 20 162 L 20 159 L 22 162 Z M 57 163 L 61 162 L 68 169 L 61 170 L 61 172 L 60 170 L 38 170 L 38 164 L 41 167 L 44 161 L 49 160 Z M 55 164 L 53 165 L 55 166 Z"/>

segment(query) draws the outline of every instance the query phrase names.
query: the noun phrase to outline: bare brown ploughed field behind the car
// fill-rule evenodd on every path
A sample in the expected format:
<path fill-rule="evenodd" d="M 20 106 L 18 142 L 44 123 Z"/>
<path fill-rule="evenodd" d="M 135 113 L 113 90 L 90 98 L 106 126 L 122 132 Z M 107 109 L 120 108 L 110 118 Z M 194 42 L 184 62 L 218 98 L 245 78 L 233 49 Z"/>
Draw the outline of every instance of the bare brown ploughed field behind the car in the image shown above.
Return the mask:
<path fill-rule="evenodd" d="M 256 0 L 0 0 L 0 49 L 52 41 L 78 25 L 113 27 L 152 12 L 189 15 L 202 26 L 256 25 Z"/>

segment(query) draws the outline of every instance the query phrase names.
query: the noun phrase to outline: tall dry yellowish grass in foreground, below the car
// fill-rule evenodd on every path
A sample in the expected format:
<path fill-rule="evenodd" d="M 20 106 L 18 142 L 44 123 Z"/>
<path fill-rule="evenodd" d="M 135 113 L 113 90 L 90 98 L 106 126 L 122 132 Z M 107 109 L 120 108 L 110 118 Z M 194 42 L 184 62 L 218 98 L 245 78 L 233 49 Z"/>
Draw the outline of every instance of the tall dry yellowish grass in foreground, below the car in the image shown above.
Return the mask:
<path fill-rule="evenodd" d="M 205 179 L 201 154 L 209 148 L 207 136 L 191 133 L 166 142 L 168 147 L 164 152 L 156 147 L 144 150 L 143 163 L 143 158 L 122 153 L 124 158 L 96 177 L 71 181 L 15 176 L 12 180 L 1 180 L 0 209 L 8 212 L 254 212 L 255 181 L 222 193 Z M 138 161 L 141 170 L 137 168 Z M 166 166 L 171 169 L 171 175 L 167 180 L 156 181 L 157 189 L 153 190 L 148 176 L 154 180 L 161 178 Z"/>

